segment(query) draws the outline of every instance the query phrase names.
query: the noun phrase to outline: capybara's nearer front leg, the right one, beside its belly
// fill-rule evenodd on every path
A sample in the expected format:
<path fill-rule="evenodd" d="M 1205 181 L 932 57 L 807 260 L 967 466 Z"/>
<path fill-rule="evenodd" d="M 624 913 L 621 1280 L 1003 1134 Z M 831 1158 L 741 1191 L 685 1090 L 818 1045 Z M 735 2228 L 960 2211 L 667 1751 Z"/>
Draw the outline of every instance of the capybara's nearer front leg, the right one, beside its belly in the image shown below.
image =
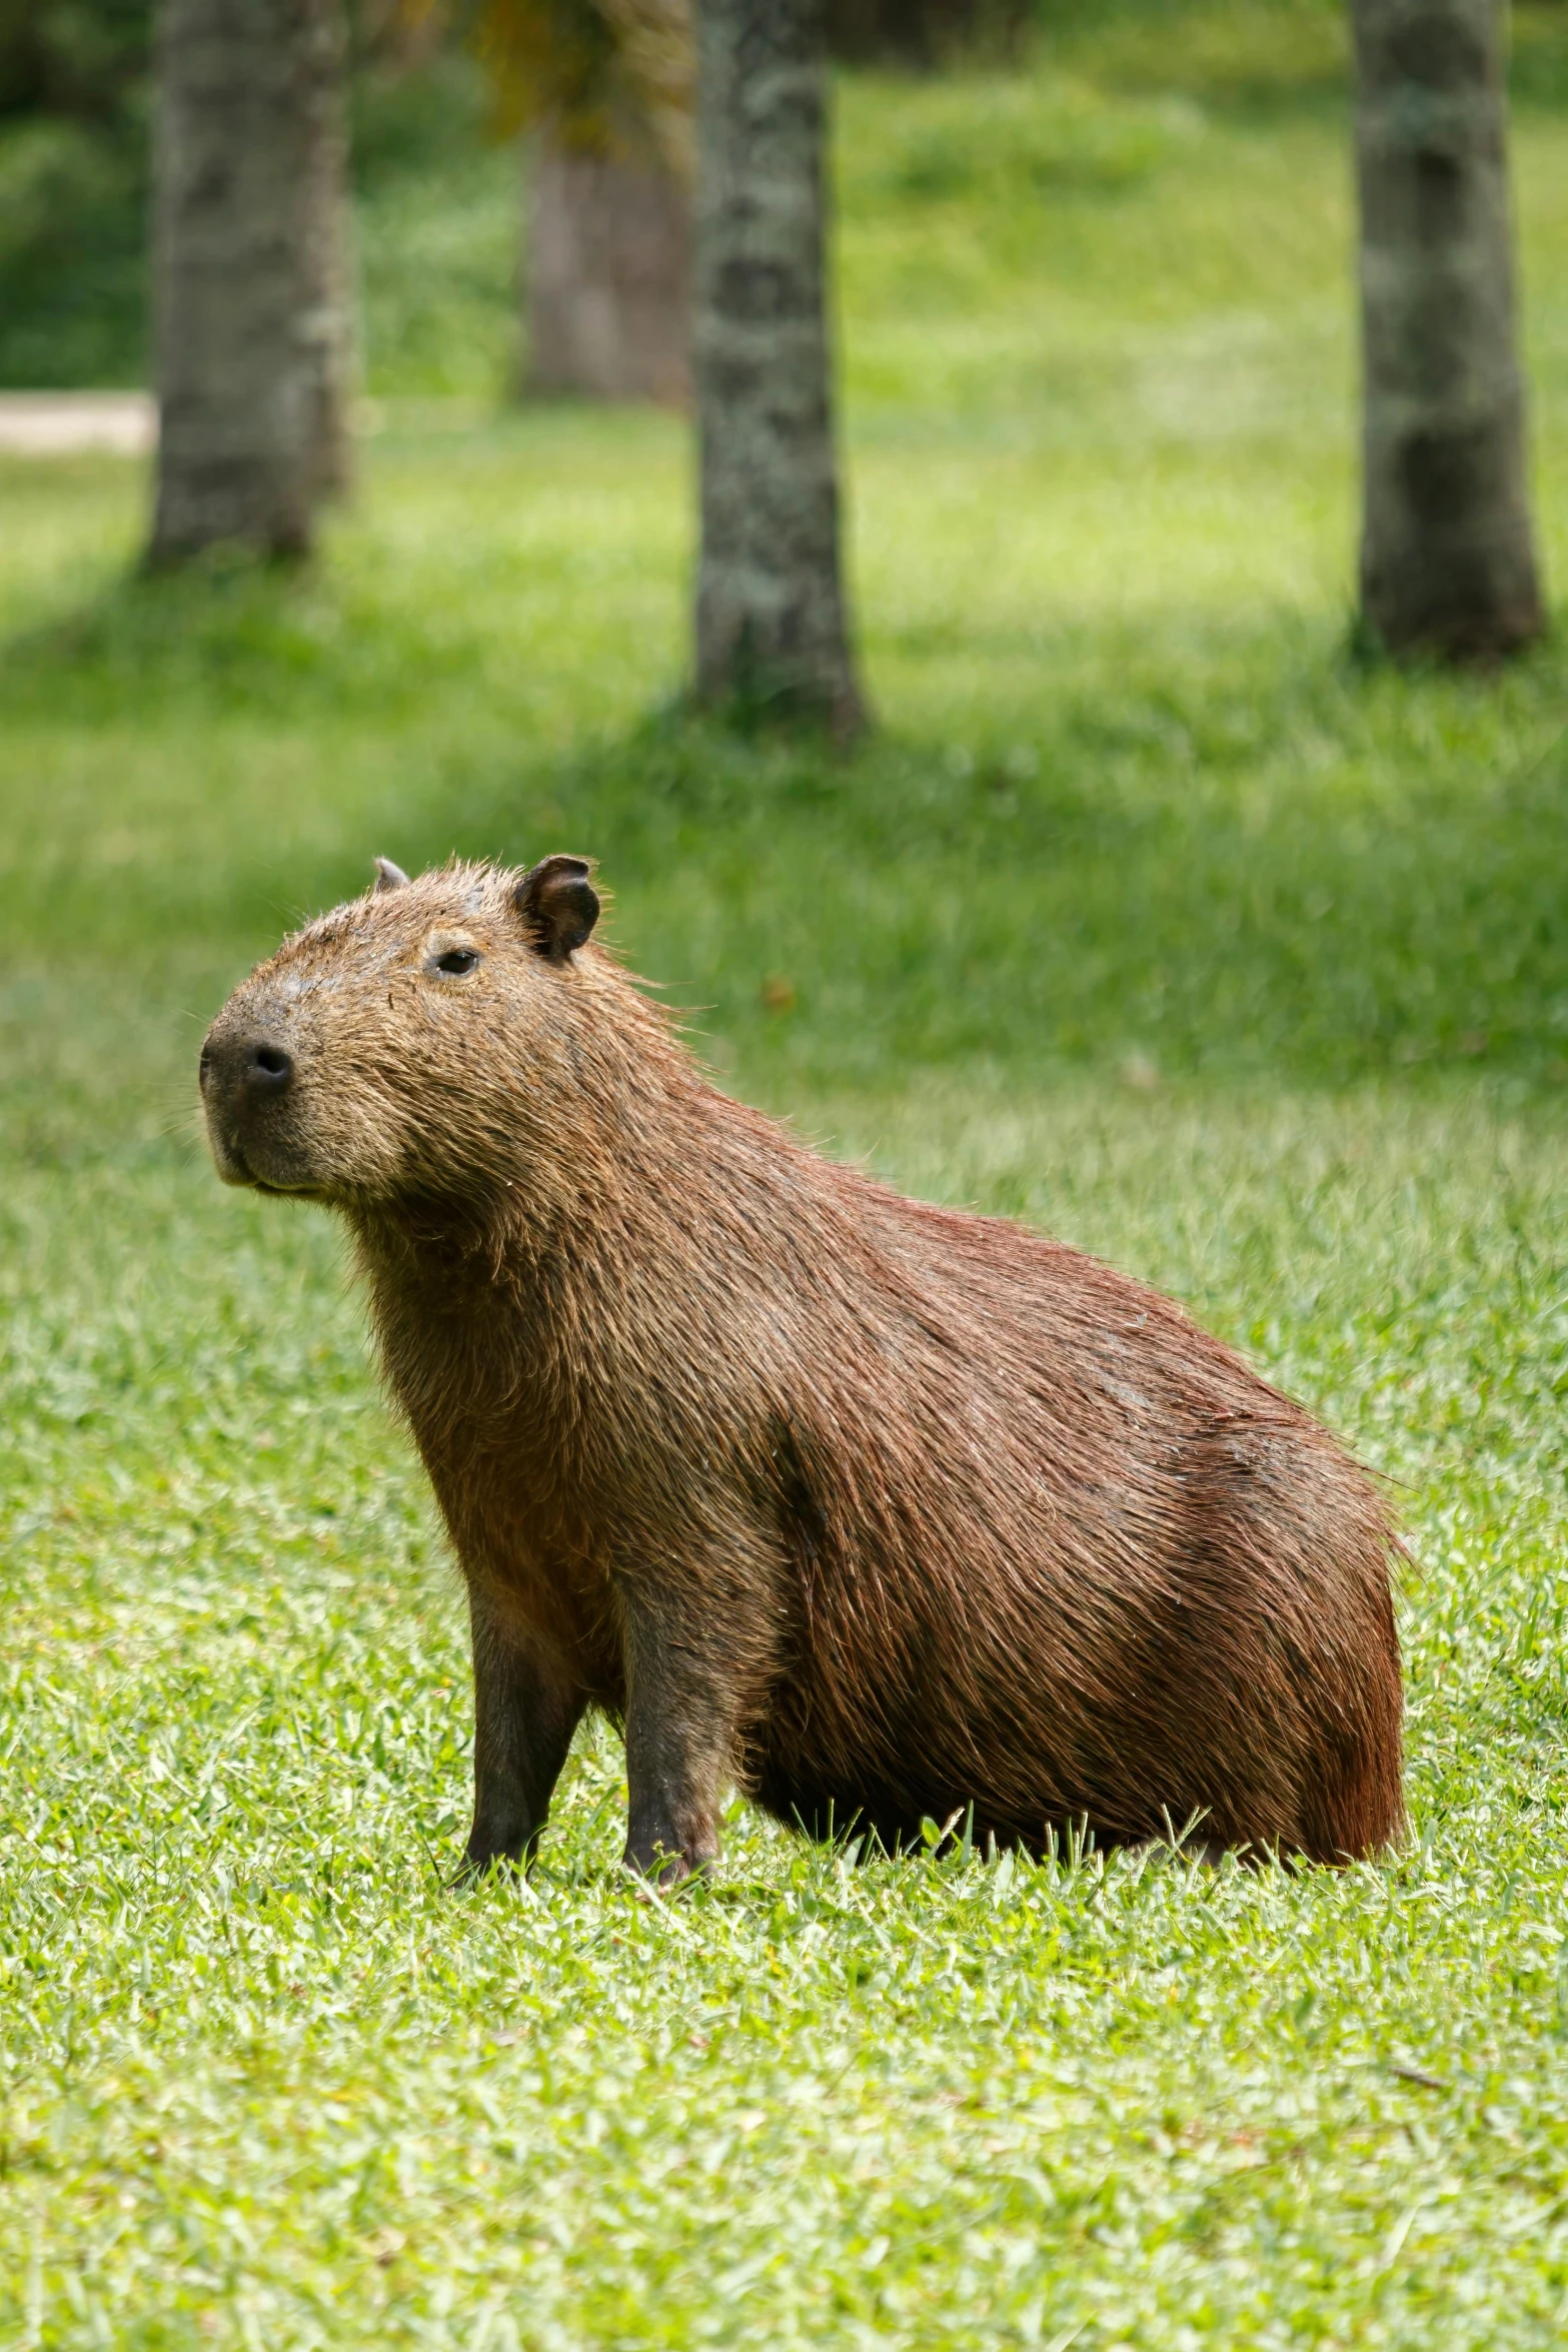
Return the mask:
<path fill-rule="evenodd" d="M 625 1863 L 675 1886 L 719 1856 L 719 1797 L 731 1769 L 745 1672 L 741 1628 L 701 1623 L 639 1581 L 623 1585 Z"/>

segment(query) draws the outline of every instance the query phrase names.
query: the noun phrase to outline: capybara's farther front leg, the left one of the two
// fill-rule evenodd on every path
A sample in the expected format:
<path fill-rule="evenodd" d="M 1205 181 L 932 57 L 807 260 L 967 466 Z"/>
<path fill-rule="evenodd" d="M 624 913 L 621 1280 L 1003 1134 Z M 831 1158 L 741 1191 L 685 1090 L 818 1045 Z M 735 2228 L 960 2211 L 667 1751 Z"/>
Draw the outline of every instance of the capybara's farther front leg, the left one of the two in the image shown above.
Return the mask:
<path fill-rule="evenodd" d="M 583 1693 L 475 1585 L 468 1588 L 468 1618 L 475 1790 L 463 1875 L 473 1877 L 489 1863 L 527 1863 L 583 1715 Z"/>

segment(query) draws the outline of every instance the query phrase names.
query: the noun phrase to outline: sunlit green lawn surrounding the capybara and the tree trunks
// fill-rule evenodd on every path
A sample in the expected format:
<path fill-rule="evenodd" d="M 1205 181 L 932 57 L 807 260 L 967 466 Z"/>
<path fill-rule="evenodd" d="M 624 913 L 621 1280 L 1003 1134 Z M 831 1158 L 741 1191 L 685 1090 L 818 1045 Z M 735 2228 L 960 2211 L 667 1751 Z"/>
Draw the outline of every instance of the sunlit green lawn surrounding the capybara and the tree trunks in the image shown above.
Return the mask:
<path fill-rule="evenodd" d="M 505 285 L 435 334 L 397 240 L 313 574 L 127 586 L 136 468 L 0 470 L 0 2347 L 1563 2340 L 1568 654 L 1349 659 L 1335 24 L 1171 16 L 842 89 L 853 760 L 682 715 L 684 428 L 494 412 Z M 1563 52 L 1521 16 L 1559 583 Z M 510 165 L 418 169 L 437 256 Z M 555 847 L 724 1084 L 1173 1289 L 1387 1475 L 1399 1856 L 736 1802 L 642 1907 L 592 1731 L 531 1882 L 447 1891 L 461 1595 L 195 1047 L 376 851 Z"/>

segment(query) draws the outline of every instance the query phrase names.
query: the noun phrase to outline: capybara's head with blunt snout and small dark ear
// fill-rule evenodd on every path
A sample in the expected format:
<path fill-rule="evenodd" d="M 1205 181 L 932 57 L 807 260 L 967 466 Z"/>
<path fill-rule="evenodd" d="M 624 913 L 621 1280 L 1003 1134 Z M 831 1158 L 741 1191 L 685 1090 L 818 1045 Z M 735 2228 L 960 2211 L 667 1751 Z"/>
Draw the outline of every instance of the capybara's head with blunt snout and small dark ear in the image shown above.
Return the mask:
<path fill-rule="evenodd" d="M 336 1207 L 473 1200 L 503 1183 L 571 1054 L 599 898 L 583 858 L 529 873 L 388 858 L 364 898 L 296 931 L 202 1044 L 219 1176 Z M 489 1148 L 494 1141 L 494 1150 Z"/>

